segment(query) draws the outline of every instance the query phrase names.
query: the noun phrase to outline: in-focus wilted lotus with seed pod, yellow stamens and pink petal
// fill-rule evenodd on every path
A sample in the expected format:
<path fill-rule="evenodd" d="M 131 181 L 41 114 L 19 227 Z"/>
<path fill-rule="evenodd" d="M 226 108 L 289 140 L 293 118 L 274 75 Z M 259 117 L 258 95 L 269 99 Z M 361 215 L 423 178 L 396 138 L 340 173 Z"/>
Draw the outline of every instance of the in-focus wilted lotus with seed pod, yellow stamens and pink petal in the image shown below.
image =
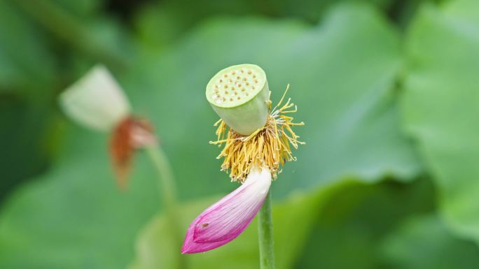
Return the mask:
<path fill-rule="evenodd" d="M 211 144 L 224 144 L 221 170 L 242 185 L 190 224 L 182 253 L 205 252 L 237 238 L 263 205 L 280 166 L 295 160 L 290 146 L 303 143 L 291 127 L 304 123 L 286 116 L 296 112 L 290 99 L 282 105 L 286 92 L 271 108 L 265 72 L 253 64 L 230 66 L 209 81 L 207 99 L 221 117 L 215 124 L 218 139 Z"/>

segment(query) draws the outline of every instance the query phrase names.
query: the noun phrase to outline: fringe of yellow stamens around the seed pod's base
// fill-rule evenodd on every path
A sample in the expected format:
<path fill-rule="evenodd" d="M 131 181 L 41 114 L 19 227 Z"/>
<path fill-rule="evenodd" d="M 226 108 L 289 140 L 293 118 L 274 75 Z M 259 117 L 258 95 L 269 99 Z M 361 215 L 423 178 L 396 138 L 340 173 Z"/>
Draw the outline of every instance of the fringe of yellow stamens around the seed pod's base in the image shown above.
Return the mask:
<path fill-rule="evenodd" d="M 221 153 L 216 157 L 224 157 L 221 170 L 230 171 L 232 181 L 244 182 L 251 167 L 268 167 L 272 178 L 276 179 L 277 174 L 281 173 L 280 167 L 284 166 L 286 161 L 296 161 L 291 152 L 291 146 L 297 149 L 298 145 L 304 145 L 304 142 L 298 141 L 299 136 L 291 128 L 292 126 L 302 126 L 305 123 L 293 122 L 293 117 L 286 116 L 286 113 L 296 112 L 296 106 L 288 99 L 282 106 L 289 85 L 275 108 L 271 109 L 266 125 L 251 133 L 249 136 L 243 136 L 228 127 L 223 119 L 218 120 L 214 126 L 216 129 L 216 141 L 210 141 L 210 144 L 221 147 L 225 144 Z M 271 93 L 270 93 L 271 94 Z M 289 110 L 294 108 L 293 110 Z M 227 128 L 228 127 L 228 128 Z"/>

